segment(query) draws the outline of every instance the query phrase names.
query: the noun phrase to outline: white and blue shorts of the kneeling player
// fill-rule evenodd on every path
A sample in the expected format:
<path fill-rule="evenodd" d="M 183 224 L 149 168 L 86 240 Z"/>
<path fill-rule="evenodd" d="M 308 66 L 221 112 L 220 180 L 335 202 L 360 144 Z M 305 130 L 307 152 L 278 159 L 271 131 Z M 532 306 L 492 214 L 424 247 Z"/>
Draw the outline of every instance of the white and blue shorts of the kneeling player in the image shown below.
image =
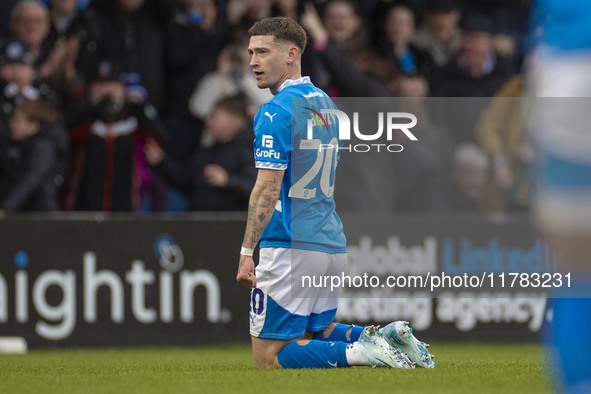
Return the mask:
<path fill-rule="evenodd" d="M 346 263 L 346 253 L 262 248 L 251 292 L 250 334 L 289 340 L 323 331 L 336 314 L 340 288 L 319 278 L 340 277 Z"/>

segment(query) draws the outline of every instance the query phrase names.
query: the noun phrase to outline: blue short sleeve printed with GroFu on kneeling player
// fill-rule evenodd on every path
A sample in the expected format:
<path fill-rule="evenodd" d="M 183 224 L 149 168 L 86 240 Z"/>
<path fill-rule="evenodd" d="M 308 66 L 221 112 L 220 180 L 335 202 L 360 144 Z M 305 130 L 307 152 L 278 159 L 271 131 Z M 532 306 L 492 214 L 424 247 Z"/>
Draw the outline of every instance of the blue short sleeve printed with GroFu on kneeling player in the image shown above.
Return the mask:
<path fill-rule="evenodd" d="M 285 109 L 265 104 L 254 118 L 256 168 L 286 170 L 291 155 L 291 116 Z"/>

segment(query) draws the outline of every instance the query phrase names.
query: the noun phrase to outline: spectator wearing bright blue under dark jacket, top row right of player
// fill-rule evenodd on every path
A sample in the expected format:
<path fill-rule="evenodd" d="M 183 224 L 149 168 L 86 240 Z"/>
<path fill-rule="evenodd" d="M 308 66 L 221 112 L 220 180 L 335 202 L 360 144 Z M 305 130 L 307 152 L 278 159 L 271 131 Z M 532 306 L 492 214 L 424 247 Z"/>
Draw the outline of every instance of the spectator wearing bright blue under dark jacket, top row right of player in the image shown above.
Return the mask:
<path fill-rule="evenodd" d="M 399 73 L 428 76 L 433 67 L 429 53 L 411 43 L 415 33 L 415 15 L 405 5 L 396 4 L 386 11 L 384 37 L 379 42 L 381 53 Z"/>

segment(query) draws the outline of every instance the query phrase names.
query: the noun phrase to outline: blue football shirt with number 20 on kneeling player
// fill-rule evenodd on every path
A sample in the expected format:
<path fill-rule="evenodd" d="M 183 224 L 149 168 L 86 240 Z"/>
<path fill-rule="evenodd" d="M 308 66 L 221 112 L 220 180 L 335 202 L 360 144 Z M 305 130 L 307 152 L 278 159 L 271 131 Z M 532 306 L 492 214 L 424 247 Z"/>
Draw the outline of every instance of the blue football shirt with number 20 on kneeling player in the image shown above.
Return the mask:
<path fill-rule="evenodd" d="M 336 106 L 302 77 L 287 80 L 255 115 L 256 167 L 285 170 L 279 201 L 261 235 L 262 248 L 347 251 L 334 201 L 338 123 L 326 121 L 323 109 Z M 309 127 L 313 138 L 308 138 Z"/>

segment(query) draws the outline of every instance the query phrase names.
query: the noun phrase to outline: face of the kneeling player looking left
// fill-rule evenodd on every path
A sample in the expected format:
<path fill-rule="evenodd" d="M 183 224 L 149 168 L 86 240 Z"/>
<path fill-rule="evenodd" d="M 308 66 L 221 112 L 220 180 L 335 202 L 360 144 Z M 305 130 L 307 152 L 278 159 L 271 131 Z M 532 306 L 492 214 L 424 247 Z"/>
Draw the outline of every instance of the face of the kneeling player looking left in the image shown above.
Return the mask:
<path fill-rule="evenodd" d="M 252 36 L 248 45 L 250 67 L 260 89 L 269 88 L 275 94 L 287 79 L 289 48 L 275 41 L 274 36 Z"/>

